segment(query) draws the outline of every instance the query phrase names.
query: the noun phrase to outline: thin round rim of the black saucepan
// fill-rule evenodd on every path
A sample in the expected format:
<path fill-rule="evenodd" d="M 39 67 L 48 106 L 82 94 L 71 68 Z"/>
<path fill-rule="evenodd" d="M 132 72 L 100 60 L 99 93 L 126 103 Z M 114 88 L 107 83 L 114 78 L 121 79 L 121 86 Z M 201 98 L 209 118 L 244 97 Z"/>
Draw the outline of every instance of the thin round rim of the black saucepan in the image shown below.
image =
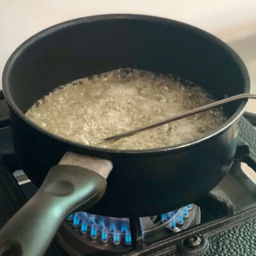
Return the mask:
<path fill-rule="evenodd" d="M 77 143 L 71 140 L 67 140 L 65 138 L 61 138 L 60 136 L 57 136 L 56 134 L 52 134 L 51 132 L 46 131 L 39 125 L 36 125 L 33 123 L 29 118 L 27 118 L 24 113 L 20 110 L 20 108 L 17 106 L 15 103 L 15 100 L 13 100 L 12 93 L 10 93 L 10 76 L 12 76 L 12 67 L 19 58 L 20 54 L 24 52 L 29 45 L 33 44 L 34 42 L 40 40 L 44 36 L 51 35 L 55 31 L 59 31 L 60 29 L 65 29 L 68 28 L 69 26 L 74 26 L 76 24 L 81 24 L 84 22 L 95 22 L 99 20 L 113 20 L 113 19 L 133 19 L 133 20 L 149 20 L 152 22 L 158 22 L 159 24 L 179 24 L 184 27 L 187 27 L 188 29 L 194 30 L 196 33 L 203 35 L 204 37 L 207 37 L 208 40 L 211 40 L 214 42 L 214 44 L 219 45 L 225 51 L 230 55 L 230 58 L 232 58 L 236 64 L 239 66 L 241 69 L 241 74 L 244 79 L 244 93 L 250 92 L 250 78 L 248 75 L 248 71 L 241 60 L 241 58 L 234 52 L 227 44 L 222 42 L 220 39 L 216 38 L 216 36 L 213 36 L 207 32 L 205 32 L 202 29 L 195 28 L 194 26 L 191 26 L 189 24 L 185 24 L 183 22 L 178 22 L 175 20 L 171 19 L 164 19 L 161 17 L 154 17 L 154 16 L 148 16 L 148 15 L 136 15 L 136 14 L 109 14 L 109 15 L 95 15 L 95 16 L 90 16 L 90 17 L 83 17 L 79 19 L 74 19 L 74 20 L 68 20 L 66 22 L 62 22 L 60 24 L 56 24 L 54 26 L 51 26 L 50 28 L 44 29 L 43 31 L 40 31 L 39 33 L 36 33 L 36 35 L 31 36 L 28 40 L 26 40 L 23 44 L 21 44 L 10 56 L 8 59 L 4 71 L 3 71 L 3 93 L 6 101 L 8 102 L 10 108 L 14 111 L 14 113 L 19 116 L 26 124 L 30 125 L 34 129 L 36 129 L 39 132 L 42 132 L 43 134 L 50 136 L 51 138 L 55 140 L 62 141 L 63 143 L 67 143 L 70 146 L 75 146 L 79 148 L 86 148 L 89 150 L 96 150 L 98 152 L 107 152 L 107 153 L 115 153 L 115 154 L 129 154 L 129 155 L 134 155 L 134 154 L 149 154 L 150 156 L 152 154 L 159 154 L 159 152 L 170 152 L 170 151 L 177 151 L 177 150 L 182 150 L 184 148 L 188 147 L 193 147 L 194 145 L 197 145 L 198 143 L 202 143 L 204 141 L 207 141 L 215 136 L 218 136 L 219 134 L 225 132 L 234 122 L 236 122 L 241 115 L 243 115 L 243 112 L 246 108 L 246 105 L 248 104 L 248 100 L 245 99 L 241 102 L 239 105 L 239 108 L 237 108 L 236 112 L 228 118 L 228 120 L 220 125 L 220 127 L 212 130 L 211 132 L 207 132 L 204 137 L 198 138 L 196 140 L 191 140 L 186 143 L 180 143 L 177 145 L 172 145 L 168 147 L 160 147 L 160 148 L 147 148 L 147 149 L 138 149 L 138 150 L 124 150 L 124 149 L 113 149 L 113 148 L 101 148 L 101 147 L 93 147 L 93 146 L 88 146 L 84 145 L 83 143 Z M 79 77 L 77 77 L 79 78 Z"/>

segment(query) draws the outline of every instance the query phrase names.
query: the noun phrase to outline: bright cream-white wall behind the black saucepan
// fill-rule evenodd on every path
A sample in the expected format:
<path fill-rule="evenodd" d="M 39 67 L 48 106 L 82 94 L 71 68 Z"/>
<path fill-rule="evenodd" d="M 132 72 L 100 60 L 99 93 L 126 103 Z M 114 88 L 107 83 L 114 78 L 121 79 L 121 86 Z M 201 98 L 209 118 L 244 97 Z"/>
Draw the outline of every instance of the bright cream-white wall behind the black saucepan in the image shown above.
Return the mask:
<path fill-rule="evenodd" d="M 256 28 L 255 0 L 0 0 L 0 76 L 29 36 L 59 22 L 105 13 L 140 13 L 180 20 L 224 40 Z M 1 83 L 0 83 L 1 89 Z"/>

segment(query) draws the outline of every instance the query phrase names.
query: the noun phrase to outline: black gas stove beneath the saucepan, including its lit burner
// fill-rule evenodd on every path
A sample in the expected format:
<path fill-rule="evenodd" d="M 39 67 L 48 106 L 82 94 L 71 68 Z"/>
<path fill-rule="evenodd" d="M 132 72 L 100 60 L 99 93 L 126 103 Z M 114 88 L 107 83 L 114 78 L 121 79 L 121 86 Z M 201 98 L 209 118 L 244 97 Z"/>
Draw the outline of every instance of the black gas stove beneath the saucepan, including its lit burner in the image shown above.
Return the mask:
<path fill-rule="evenodd" d="M 0 93 L 0 228 L 36 191 L 19 170 L 9 125 Z M 245 118 L 241 131 L 237 154 L 246 156 L 246 143 L 256 146 L 256 131 Z M 204 198 L 172 210 L 143 218 L 75 212 L 63 221 L 45 256 L 256 255 L 256 185 L 241 162 L 235 161 Z"/>

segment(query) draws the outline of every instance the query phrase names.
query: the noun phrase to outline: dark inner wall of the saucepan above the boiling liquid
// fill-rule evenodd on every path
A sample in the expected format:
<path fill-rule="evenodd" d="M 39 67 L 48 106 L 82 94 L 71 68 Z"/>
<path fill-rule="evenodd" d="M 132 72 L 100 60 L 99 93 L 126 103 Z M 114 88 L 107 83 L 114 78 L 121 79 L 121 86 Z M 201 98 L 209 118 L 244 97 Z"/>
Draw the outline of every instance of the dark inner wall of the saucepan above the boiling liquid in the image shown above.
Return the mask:
<path fill-rule="evenodd" d="M 22 118 L 36 100 L 61 84 L 121 67 L 188 79 L 216 99 L 249 92 L 248 74 L 239 56 L 204 31 L 143 15 L 85 19 L 86 22 L 83 18 L 71 20 L 38 33 L 8 61 L 4 93 Z M 246 102 L 228 104 L 225 113 L 230 118 L 220 129 L 243 111 Z M 211 134 L 216 131 L 207 136 Z"/>

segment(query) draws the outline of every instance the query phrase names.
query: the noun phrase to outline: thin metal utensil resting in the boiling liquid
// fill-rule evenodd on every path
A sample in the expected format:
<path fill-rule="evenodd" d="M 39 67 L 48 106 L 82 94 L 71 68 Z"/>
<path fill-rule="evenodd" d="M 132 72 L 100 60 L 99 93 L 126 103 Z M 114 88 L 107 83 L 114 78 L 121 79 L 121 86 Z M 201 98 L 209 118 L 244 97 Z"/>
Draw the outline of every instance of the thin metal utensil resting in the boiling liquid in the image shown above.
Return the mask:
<path fill-rule="evenodd" d="M 128 136 L 131 136 L 131 135 L 136 134 L 138 132 L 146 131 L 148 129 L 158 127 L 160 125 L 168 124 L 168 123 L 173 122 L 175 120 L 179 120 L 179 119 L 187 117 L 187 116 L 195 115 L 195 114 L 200 113 L 202 111 L 205 111 L 205 110 L 208 110 L 208 109 L 211 109 L 211 108 L 215 108 L 217 106 L 221 106 L 221 105 L 226 104 L 228 102 L 232 102 L 232 101 L 239 100 L 239 99 L 256 99 L 256 95 L 252 94 L 252 93 L 237 94 L 237 95 L 234 95 L 232 97 L 228 97 L 226 99 L 218 100 L 216 102 L 212 102 L 210 104 L 201 106 L 199 108 L 191 109 L 191 110 L 186 111 L 184 113 L 173 115 L 170 118 L 166 118 L 164 120 L 161 120 L 161 121 L 149 124 L 149 125 L 145 125 L 145 126 L 142 126 L 142 127 L 138 127 L 136 129 L 132 129 L 132 130 L 127 131 L 127 132 L 122 132 L 120 134 L 116 134 L 115 136 L 108 137 L 104 140 L 118 140 L 120 138 L 128 137 Z"/>

